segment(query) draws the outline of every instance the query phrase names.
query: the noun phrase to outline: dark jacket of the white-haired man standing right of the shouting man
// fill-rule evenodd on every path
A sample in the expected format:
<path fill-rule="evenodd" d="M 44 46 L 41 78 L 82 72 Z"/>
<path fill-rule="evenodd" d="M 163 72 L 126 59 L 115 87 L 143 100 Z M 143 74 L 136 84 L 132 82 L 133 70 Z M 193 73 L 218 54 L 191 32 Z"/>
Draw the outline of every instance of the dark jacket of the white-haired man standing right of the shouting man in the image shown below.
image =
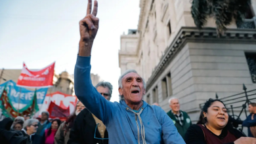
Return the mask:
<path fill-rule="evenodd" d="M 171 113 L 171 111 L 169 111 L 167 113 L 167 115 L 171 118 L 171 120 L 173 120 L 173 123 L 175 124 L 179 134 L 182 136 L 182 138 L 184 139 L 184 136 L 186 134 L 186 130 L 188 130 L 188 128 L 192 125 L 192 122 L 190 120 L 190 117 L 188 116 L 188 114 L 184 111 L 181 111 L 183 114 L 183 124 L 181 126 L 179 120 L 177 120 L 177 118 L 175 117 L 175 115 L 173 115 L 173 113 Z"/>

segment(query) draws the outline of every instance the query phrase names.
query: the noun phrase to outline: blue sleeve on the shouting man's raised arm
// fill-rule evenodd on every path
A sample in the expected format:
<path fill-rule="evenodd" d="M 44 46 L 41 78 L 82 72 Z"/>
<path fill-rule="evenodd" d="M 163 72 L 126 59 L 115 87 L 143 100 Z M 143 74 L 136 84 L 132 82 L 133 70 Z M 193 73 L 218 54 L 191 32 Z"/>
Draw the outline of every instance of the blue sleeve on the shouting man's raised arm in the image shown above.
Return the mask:
<path fill-rule="evenodd" d="M 74 72 L 74 87 L 77 98 L 104 124 L 112 117 L 114 103 L 106 100 L 91 82 L 91 56 L 77 55 Z"/>

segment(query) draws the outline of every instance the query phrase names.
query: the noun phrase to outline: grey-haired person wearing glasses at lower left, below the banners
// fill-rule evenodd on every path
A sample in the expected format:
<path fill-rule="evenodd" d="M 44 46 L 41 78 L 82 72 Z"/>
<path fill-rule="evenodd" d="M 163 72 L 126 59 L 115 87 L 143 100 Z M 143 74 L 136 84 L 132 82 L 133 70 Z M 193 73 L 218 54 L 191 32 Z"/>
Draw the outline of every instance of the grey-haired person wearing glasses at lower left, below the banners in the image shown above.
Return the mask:
<path fill-rule="evenodd" d="M 43 144 L 44 141 L 44 136 L 35 134 L 35 132 L 37 132 L 37 128 L 38 128 L 38 120 L 37 119 L 28 119 L 25 120 L 24 124 L 23 124 L 23 131 L 25 132 L 26 136 L 28 136 L 28 141 L 27 143 L 30 144 Z"/>

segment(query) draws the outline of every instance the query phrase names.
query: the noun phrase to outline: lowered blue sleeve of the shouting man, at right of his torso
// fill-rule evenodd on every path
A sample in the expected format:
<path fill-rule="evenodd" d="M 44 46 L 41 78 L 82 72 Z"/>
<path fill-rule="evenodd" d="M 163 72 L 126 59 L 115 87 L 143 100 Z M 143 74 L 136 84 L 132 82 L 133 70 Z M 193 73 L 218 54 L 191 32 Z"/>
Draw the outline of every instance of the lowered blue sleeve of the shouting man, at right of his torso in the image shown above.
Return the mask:
<path fill-rule="evenodd" d="M 182 144 L 184 140 L 182 139 L 181 135 L 179 134 L 176 126 L 173 124 L 171 118 L 160 108 L 161 116 L 160 116 L 160 123 L 161 123 L 161 130 L 162 130 L 162 137 L 165 144 Z"/>

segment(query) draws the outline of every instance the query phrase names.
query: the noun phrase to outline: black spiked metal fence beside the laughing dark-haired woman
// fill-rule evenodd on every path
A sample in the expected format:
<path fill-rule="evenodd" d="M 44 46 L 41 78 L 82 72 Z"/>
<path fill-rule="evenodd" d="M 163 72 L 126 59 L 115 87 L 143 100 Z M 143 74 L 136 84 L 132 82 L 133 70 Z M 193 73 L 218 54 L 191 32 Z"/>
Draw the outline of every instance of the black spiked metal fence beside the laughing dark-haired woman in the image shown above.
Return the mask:
<path fill-rule="evenodd" d="M 247 117 L 247 105 L 251 102 L 255 102 L 256 100 L 256 89 L 247 91 L 245 84 L 243 84 L 244 92 L 239 94 L 234 94 L 232 96 L 225 96 L 224 98 L 219 98 L 216 93 L 215 98 L 220 99 L 226 105 L 226 108 L 230 110 L 230 114 L 232 118 L 241 120 L 242 114 Z M 200 109 L 203 108 L 204 103 L 200 103 Z M 234 111 L 238 112 L 239 115 L 235 115 Z M 243 113 L 244 112 L 244 113 Z M 240 128 L 240 131 L 243 130 L 243 126 Z"/>

